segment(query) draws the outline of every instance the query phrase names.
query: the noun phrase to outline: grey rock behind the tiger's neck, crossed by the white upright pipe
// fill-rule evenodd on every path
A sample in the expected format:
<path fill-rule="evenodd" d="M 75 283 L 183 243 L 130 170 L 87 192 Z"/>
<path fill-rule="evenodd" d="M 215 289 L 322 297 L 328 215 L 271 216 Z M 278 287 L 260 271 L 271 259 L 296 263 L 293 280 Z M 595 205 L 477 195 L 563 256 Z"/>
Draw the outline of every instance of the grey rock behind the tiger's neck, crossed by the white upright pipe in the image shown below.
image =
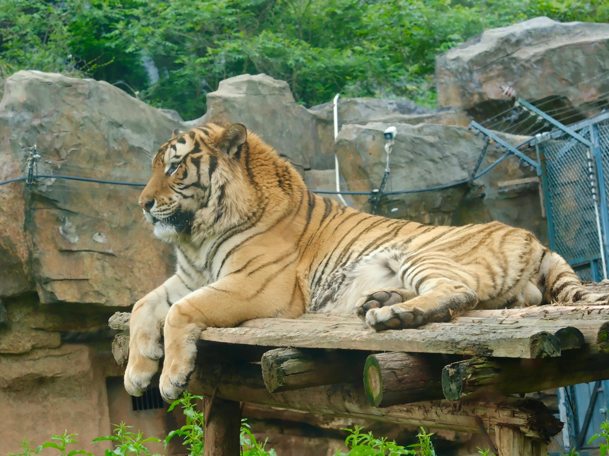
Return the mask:
<path fill-rule="evenodd" d="M 418 116 L 434 115 L 407 100 L 339 98 L 340 126 L 403 117 L 414 117 L 410 122 L 419 123 L 422 118 Z M 334 103 L 306 109 L 295 102 L 285 81 L 266 74 L 242 74 L 221 81 L 217 91 L 207 95 L 205 116 L 185 125 L 202 122 L 243 123 L 300 171 L 334 168 Z M 460 120 L 460 125 L 464 122 Z"/>

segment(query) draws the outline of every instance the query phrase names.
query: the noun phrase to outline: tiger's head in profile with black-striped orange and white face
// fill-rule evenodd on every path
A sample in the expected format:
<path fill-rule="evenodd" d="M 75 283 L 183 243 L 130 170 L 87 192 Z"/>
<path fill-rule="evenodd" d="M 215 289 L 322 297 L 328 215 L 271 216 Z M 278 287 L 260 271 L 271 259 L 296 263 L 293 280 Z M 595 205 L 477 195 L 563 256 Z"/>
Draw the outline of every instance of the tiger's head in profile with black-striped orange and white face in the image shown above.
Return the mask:
<path fill-rule="evenodd" d="M 139 206 L 160 240 L 202 241 L 244 216 L 252 198 L 239 162 L 247 150 L 241 123 L 175 129 L 152 162 Z"/>

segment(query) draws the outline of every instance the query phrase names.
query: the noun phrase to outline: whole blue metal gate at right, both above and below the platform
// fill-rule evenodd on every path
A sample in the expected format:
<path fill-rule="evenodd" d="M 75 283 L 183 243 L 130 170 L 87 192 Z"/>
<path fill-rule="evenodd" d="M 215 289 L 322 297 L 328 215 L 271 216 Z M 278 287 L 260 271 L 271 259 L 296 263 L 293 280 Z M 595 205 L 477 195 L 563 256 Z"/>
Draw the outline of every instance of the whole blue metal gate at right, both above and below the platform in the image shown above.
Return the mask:
<path fill-rule="evenodd" d="M 569 126 L 588 144 L 555 130 L 532 145 L 541 164 L 550 248 L 571 264 L 582 280 L 607 278 L 609 258 L 609 113 Z M 607 420 L 609 381 L 558 390 L 560 419 L 566 426 L 560 443 L 580 456 L 598 454 L 588 444 Z"/>

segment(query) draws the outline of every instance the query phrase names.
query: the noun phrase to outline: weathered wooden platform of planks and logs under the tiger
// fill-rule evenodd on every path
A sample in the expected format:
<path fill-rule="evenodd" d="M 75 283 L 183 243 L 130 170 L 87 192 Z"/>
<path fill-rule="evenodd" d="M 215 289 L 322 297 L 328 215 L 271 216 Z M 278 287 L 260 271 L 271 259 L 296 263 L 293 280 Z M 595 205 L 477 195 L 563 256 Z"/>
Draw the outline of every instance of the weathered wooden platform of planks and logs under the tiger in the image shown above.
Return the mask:
<path fill-rule="evenodd" d="M 129 317 L 116 313 L 111 328 L 128 331 Z M 382 332 L 352 315 L 250 320 L 202 332 L 188 390 L 497 434 L 504 448 L 518 440 L 521 454 L 545 456 L 544 444 L 562 423 L 541 402 L 510 394 L 609 378 L 608 334 L 609 306 L 597 305 L 470 311 L 447 323 Z M 126 361 L 128 333 L 116 336 L 113 353 Z"/>

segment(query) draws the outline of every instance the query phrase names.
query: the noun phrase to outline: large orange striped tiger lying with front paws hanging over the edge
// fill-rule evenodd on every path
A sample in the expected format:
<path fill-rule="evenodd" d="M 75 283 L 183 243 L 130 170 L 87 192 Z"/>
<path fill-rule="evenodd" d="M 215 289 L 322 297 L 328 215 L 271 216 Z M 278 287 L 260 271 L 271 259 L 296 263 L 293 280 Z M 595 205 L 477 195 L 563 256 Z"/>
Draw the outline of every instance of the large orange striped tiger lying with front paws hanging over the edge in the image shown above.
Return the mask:
<path fill-rule="evenodd" d="M 133 396 L 164 355 L 161 396 L 178 398 L 200 333 L 249 319 L 355 313 L 384 331 L 474 308 L 607 300 L 525 229 L 427 226 L 315 195 L 240 123 L 174 130 L 139 205 L 176 266 L 133 306 L 124 375 Z"/>

